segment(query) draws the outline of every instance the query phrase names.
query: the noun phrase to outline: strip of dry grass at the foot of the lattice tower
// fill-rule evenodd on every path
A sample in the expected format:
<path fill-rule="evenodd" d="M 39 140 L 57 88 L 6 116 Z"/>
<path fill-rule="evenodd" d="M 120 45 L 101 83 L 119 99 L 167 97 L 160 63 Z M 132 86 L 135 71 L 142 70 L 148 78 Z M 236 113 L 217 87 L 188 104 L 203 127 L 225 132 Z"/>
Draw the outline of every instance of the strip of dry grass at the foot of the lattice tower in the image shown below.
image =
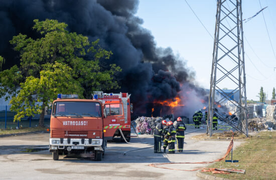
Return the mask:
<path fill-rule="evenodd" d="M 231 131 L 224 131 L 224 132 L 219 132 L 219 133 L 213 133 L 211 137 L 209 134 L 202 133 L 202 134 L 193 136 L 192 139 L 204 139 L 204 140 L 225 139 L 225 140 L 227 140 L 227 139 L 231 139 L 231 137 L 232 137 Z M 246 138 L 245 134 L 235 131 L 234 139 L 245 140 L 248 138 Z"/>

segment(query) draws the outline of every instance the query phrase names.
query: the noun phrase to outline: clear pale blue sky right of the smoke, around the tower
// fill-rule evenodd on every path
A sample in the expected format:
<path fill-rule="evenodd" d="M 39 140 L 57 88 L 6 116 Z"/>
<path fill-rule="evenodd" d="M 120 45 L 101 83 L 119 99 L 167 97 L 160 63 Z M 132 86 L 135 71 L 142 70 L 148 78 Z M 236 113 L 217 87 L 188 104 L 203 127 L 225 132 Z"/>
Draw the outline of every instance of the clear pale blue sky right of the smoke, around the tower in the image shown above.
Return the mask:
<path fill-rule="evenodd" d="M 213 35 L 216 0 L 187 0 L 197 16 Z M 268 33 L 276 53 L 276 0 L 260 0 Z M 259 11 L 259 0 L 242 0 L 243 19 Z M 185 0 L 140 0 L 137 16 L 155 36 L 158 46 L 172 47 L 175 54 L 196 71 L 196 80 L 210 88 L 213 38 L 201 25 Z M 276 57 L 267 35 L 262 13 L 243 23 L 247 99 L 258 100 L 260 86 L 271 98 L 276 87 Z M 251 46 L 251 47 L 250 47 Z M 253 50 L 252 50 L 253 49 Z M 250 59 L 249 59 L 249 58 Z M 275 67 L 275 69 L 274 69 Z M 275 70 L 275 71 L 274 71 Z M 225 85 L 226 88 L 231 87 Z"/>

